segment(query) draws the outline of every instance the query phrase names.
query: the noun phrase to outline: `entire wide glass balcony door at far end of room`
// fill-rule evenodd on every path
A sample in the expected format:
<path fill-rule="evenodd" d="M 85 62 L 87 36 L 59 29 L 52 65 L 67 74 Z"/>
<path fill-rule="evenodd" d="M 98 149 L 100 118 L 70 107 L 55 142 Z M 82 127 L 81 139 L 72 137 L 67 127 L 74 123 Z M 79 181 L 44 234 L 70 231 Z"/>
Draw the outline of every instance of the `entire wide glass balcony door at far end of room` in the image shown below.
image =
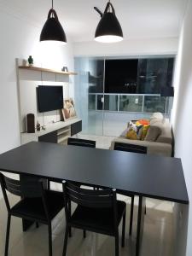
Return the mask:
<path fill-rule="evenodd" d="M 162 84 L 172 84 L 168 67 L 173 62 L 169 59 L 134 60 L 132 68 L 137 67 L 137 73 L 129 70 L 126 76 L 124 67 L 121 77 L 115 74 L 115 65 L 120 62 L 112 65 L 104 58 L 77 57 L 74 63 L 78 73 L 74 97 L 76 111 L 83 120 L 82 133 L 119 137 L 131 119 L 148 119 L 154 112 L 169 117 L 172 100 L 160 96 Z M 112 69 L 107 68 L 108 63 Z M 131 69 L 131 64 L 128 67 Z M 106 80 L 107 74 L 111 78 Z"/>

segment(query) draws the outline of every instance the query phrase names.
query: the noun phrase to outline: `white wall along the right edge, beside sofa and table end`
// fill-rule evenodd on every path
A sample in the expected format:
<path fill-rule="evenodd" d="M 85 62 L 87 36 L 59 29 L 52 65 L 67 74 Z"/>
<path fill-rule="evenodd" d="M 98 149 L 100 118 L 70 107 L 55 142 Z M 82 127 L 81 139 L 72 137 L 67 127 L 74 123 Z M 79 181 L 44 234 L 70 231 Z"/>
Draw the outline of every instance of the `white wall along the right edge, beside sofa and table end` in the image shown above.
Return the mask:
<path fill-rule="evenodd" d="M 175 70 L 175 99 L 172 109 L 172 125 L 175 136 L 175 156 L 182 159 L 189 201 L 192 201 L 192 0 L 183 20 L 177 65 Z M 188 212 L 189 211 L 189 212 Z M 176 256 L 192 255 L 192 207 L 176 205 L 177 240 Z M 189 224 L 188 224 L 189 214 Z M 188 228 L 187 228 L 188 227 Z M 188 235 L 188 237 L 187 237 Z M 186 249 L 187 242 L 187 249 Z M 186 254 L 185 254 L 186 250 Z"/>

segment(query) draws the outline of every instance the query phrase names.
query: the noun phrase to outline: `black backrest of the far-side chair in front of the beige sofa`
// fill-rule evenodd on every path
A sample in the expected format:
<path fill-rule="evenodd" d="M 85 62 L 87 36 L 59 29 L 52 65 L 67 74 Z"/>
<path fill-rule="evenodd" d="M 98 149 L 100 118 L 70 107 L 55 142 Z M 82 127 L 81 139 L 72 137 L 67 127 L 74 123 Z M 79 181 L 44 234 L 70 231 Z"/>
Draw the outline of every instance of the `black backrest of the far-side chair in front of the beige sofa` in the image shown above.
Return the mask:
<path fill-rule="evenodd" d="M 147 154 L 147 147 L 128 143 L 114 143 L 113 150 Z"/>

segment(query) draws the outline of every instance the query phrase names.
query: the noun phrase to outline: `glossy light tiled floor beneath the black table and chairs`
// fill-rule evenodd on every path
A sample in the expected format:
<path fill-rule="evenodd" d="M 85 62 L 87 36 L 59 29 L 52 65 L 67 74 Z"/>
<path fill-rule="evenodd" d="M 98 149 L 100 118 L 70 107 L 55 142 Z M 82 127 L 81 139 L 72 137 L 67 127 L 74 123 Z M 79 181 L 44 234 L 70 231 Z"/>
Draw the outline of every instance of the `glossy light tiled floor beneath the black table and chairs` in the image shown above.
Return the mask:
<path fill-rule="evenodd" d="M 108 148 L 113 138 L 99 137 L 98 148 Z M 51 183 L 52 189 L 61 189 L 58 183 Z M 17 198 L 10 196 L 14 203 Z M 137 229 L 137 197 L 134 207 L 133 233 L 129 236 L 130 200 L 128 197 L 119 195 L 120 200 L 127 203 L 125 248 L 120 247 L 119 255 L 135 255 L 136 229 Z M 74 206 L 73 206 L 74 207 Z M 7 212 L 3 200 L 0 201 L 0 255 L 3 255 Z M 65 227 L 65 214 L 61 211 L 52 222 L 53 230 L 53 256 L 62 253 Z M 119 234 L 121 224 L 119 226 Z M 120 237 L 120 235 L 119 235 Z M 145 216 L 143 243 L 141 256 L 173 256 L 173 224 L 172 203 L 166 201 L 147 200 L 147 214 Z M 25 233 L 21 230 L 20 218 L 12 218 L 9 255 L 11 256 L 47 256 L 48 255 L 48 231 L 47 226 L 41 224 L 38 229 L 33 225 Z M 84 239 L 81 230 L 73 230 L 73 236 L 68 240 L 67 255 L 69 256 L 113 256 L 113 237 L 97 235 L 87 232 Z"/>

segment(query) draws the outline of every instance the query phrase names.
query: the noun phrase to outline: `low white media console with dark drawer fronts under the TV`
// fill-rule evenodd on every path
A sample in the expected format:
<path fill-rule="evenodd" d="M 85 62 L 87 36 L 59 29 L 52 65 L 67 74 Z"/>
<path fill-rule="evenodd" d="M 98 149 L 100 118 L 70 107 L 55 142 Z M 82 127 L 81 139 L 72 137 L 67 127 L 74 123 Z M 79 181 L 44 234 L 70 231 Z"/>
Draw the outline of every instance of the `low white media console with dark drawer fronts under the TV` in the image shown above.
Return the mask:
<path fill-rule="evenodd" d="M 21 144 L 30 142 L 67 144 L 67 138 L 82 131 L 82 120 L 75 118 L 60 121 L 45 127 L 45 130 L 34 133 L 21 133 Z"/>

